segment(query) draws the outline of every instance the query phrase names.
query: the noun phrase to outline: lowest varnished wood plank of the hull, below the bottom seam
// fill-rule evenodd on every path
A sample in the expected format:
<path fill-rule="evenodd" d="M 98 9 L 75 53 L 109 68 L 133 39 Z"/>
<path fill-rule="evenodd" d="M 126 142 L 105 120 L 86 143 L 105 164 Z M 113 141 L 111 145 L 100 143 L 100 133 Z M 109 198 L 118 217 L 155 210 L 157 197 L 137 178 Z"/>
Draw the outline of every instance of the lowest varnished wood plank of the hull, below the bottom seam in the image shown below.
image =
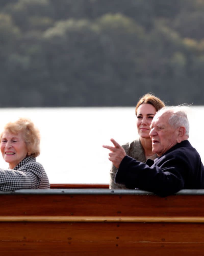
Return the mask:
<path fill-rule="evenodd" d="M 75 247 L 67 244 L 66 248 L 64 243 L 22 243 L 20 246 L 17 244 L 10 248 L 8 242 L 4 242 L 1 247 L 1 254 L 6 256 L 203 256 L 203 245 L 197 243 L 191 244 L 167 244 L 167 243 L 126 243 L 119 246 L 114 244 L 101 244 L 92 243 L 75 244 Z M 47 248 L 49 249 L 47 250 Z M 23 249 L 22 249 L 23 248 Z"/>

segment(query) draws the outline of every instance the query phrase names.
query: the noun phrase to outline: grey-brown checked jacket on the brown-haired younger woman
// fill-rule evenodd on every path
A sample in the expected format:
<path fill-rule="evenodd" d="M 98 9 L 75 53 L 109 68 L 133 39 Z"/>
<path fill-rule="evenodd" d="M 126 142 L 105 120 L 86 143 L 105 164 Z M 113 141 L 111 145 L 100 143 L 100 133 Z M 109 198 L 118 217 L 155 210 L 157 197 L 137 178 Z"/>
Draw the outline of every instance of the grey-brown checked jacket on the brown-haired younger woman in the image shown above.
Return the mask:
<path fill-rule="evenodd" d="M 143 163 L 146 162 L 146 157 L 143 151 L 143 147 L 140 143 L 140 140 L 135 140 L 135 141 L 126 143 L 122 145 L 122 147 L 124 148 L 125 153 L 127 155 L 131 156 L 132 158 L 134 158 L 139 162 L 143 162 Z M 155 155 L 154 158 L 156 157 L 157 155 Z M 109 185 L 110 189 L 128 189 L 123 184 L 115 183 L 115 176 L 117 171 L 118 169 L 112 164 L 111 170 L 110 170 L 110 185 Z"/>

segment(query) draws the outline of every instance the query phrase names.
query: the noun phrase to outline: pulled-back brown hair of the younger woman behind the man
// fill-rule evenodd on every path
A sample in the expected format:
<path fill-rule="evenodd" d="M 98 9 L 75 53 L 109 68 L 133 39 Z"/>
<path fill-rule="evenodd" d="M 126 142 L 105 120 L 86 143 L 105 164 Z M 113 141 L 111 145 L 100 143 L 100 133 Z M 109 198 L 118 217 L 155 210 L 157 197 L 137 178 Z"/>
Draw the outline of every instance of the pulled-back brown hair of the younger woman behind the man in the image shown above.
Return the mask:
<path fill-rule="evenodd" d="M 159 98 L 157 98 L 155 95 L 153 95 L 151 93 L 147 93 L 147 94 L 143 95 L 137 102 L 137 105 L 135 108 L 136 115 L 137 115 L 137 109 L 142 104 L 151 104 L 152 106 L 155 107 L 156 111 L 158 111 L 159 109 L 161 109 L 165 106 L 165 104 L 162 100 L 160 100 Z"/>

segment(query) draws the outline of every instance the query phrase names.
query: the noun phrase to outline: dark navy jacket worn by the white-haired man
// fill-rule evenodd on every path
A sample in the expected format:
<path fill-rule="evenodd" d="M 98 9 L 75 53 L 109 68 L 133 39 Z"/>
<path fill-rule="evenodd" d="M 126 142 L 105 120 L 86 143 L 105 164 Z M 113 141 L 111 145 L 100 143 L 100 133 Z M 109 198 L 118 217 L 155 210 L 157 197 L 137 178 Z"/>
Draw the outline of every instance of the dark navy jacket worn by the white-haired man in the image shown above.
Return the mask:
<path fill-rule="evenodd" d="M 181 189 L 204 189 L 204 167 L 196 149 L 185 140 L 154 161 L 141 163 L 125 156 L 115 182 L 167 196 Z"/>

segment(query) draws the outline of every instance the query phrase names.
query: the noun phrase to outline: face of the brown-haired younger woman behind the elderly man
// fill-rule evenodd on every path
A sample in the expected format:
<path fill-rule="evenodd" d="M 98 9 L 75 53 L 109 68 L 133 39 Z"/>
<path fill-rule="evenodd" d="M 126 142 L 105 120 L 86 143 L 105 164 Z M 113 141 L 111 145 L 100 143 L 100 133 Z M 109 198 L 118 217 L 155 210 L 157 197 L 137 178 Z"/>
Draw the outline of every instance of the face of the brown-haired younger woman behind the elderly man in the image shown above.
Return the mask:
<path fill-rule="evenodd" d="M 150 124 L 156 114 L 151 104 L 141 104 L 137 109 L 137 131 L 140 137 L 149 138 Z"/>

